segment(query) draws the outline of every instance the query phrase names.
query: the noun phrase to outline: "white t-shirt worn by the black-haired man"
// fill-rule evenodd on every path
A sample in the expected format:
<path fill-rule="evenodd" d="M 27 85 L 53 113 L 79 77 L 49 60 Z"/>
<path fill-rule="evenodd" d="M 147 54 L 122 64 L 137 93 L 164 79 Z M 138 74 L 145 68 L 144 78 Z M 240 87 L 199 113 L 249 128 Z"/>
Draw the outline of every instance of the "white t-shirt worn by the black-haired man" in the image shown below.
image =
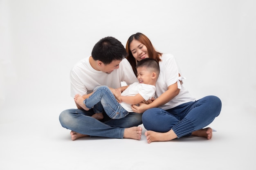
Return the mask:
<path fill-rule="evenodd" d="M 118 69 L 107 74 L 92 68 L 89 58 L 87 57 L 78 62 L 70 71 L 71 97 L 74 97 L 76 94 L 89 94 L 97 86 L 119 88 L 121 87 L 121 82 L 126 82 L 128 85 L 138 82 L 137 77 L 132 71 L 132 66 L 126 59 L 120 62 Z"/>

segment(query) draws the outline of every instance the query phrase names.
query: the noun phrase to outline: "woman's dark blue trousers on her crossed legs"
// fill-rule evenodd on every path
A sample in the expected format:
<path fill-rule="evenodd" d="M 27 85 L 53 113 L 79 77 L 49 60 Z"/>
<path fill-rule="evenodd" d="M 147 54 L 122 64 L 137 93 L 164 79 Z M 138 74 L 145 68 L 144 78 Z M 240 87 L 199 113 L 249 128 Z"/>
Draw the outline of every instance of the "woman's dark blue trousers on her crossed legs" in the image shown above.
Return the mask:
<path fill-rule="evenodd" d="M 218 97 L 206 96 L 168 110 L 150 108 L 143 113 L 142 122 L 147 130 L 168 132 L 172 129 L 180 138 L 209 125 L 220 114 L 221 106 Z"/>

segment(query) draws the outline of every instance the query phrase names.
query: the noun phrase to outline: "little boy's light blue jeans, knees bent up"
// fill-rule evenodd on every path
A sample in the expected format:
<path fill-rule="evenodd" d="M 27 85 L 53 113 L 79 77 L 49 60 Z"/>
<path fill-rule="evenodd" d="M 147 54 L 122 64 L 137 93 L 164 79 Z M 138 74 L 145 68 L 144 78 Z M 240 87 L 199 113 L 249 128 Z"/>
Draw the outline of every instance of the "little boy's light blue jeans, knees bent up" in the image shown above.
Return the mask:
<path fill-rule="evenodd" d="M 105 110 L 106 114 L 111 119 L 121 119 L 129 114 L 129 112 L 122 108 L 117 102 L 108 86 L 100 86 L 97 88 L 83 103 L 87 108 L 93 107 L 94 113 L 103 113 L 103 110 Z"/>

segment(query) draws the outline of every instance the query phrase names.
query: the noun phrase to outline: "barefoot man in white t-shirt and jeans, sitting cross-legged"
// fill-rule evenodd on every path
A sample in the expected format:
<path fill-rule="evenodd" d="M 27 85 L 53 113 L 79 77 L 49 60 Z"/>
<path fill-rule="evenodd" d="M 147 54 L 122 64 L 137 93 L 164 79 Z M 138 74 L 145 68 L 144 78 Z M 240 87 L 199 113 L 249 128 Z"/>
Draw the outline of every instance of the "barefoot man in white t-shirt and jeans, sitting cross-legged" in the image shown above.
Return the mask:
<path fill-rule="evenodd" d="M 119 40 L 113 37 L 99 40 L 92 49 L 92 55 L 72 68 L 71 96 L 80 94 L 86 99 L 97 86 L 115 89 L 121 87 L 121 82 L 128 85 L 137 82 L 126 55 L 126 49 Z M 120 99 L 121 92 L 113 90 L 113 93 Z M 85 111 L 78 104 L 76 106 L 77 109 L 64 110 L 59 116 L 61 125 L 71 130 L 72 140 L 87 136 L 141 139 L 142 128 L 138 125 L 142 124 L 142 114 L 130 113 L 122 119 L 110 119 L 105 113 L 99 121 L 91 117 L 94 114 L 92 109 Z"/>

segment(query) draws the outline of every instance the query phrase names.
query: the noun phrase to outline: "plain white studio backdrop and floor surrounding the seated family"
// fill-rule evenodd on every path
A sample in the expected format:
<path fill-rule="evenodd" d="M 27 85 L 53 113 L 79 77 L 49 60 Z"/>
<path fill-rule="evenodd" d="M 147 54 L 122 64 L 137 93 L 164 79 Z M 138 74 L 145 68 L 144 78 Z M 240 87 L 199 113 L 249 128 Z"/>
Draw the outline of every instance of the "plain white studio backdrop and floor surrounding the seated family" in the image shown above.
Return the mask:
<path fill-rule="evenodd" d="M 256 1 L 0 0 L 0 169 L 255 170 Z M 217 95 L 213 139 L 70 139 L 70 69 L 99 39 L 141 32 L 196 98 Z M 118 155 L 118 156 L 117 156 Z M 136 155 L 136 156 L 135 156 Z M 115 161 L 113 161 L 113 159 Z"/>

